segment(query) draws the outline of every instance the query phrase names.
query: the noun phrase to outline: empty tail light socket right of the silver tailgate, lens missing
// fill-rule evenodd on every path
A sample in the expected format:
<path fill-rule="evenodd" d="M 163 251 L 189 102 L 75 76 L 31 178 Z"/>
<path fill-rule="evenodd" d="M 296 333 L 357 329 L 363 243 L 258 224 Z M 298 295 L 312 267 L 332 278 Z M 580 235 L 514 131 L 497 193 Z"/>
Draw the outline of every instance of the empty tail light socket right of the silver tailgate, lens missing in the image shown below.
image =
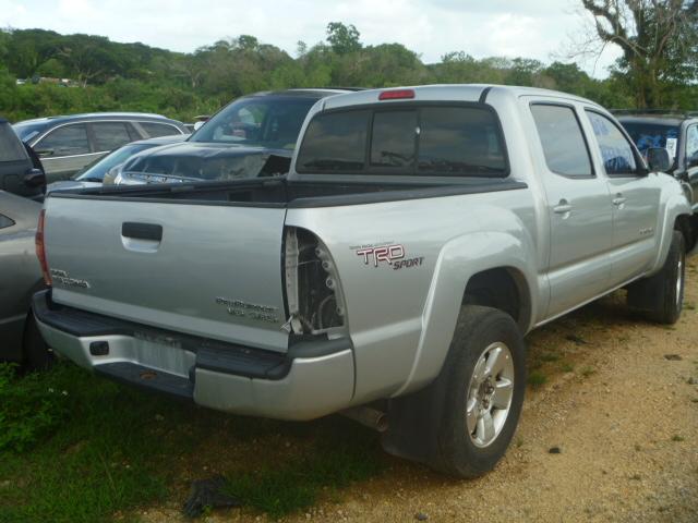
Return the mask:
<path fill-rule="evenodd" d="M 285 234 L 284 276 L 288 321 L 294 335 L 345 333 L 346 308 L 335 263 L 312 232 L 289 227 Z"/>

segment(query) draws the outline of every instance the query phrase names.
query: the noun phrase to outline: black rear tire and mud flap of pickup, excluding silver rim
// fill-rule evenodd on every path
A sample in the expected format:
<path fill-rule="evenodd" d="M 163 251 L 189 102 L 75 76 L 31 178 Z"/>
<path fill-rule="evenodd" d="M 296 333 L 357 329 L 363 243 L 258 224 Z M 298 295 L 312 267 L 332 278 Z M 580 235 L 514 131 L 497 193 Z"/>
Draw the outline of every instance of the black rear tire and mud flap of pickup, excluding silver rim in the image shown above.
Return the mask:
<path fill-rule="evenodd" d="M 478 361 L 494 343 L 504 343 L 510 352 L 512 401 L 497 435 L 486 447 L 479 447 L 466 422 L 469 386 Z M 465 305 L 436 380 L 422 391 L 390 402 L 384 448 L 457 477 L 471 478 L 491 471 L 506 452 L 521 413 L 525 352 L 519 328 L 509 315 Z"/>

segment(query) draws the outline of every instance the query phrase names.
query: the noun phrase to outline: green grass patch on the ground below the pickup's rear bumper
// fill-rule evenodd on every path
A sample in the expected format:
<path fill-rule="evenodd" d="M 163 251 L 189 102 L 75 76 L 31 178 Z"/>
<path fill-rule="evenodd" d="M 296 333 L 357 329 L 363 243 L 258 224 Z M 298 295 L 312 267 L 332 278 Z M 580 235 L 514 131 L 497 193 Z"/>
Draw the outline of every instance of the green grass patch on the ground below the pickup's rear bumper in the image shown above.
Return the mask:
<path fill-rule="evenodd" d="M 183 504 L 190 482 L 213 470 L 278 518 L 378 474 L 385 460 L 376 434 L 344 418 L 225 415 L 72 364 L 12 374 L 0 372 L 0 523 L 131 521 L 165 500 Z"/>

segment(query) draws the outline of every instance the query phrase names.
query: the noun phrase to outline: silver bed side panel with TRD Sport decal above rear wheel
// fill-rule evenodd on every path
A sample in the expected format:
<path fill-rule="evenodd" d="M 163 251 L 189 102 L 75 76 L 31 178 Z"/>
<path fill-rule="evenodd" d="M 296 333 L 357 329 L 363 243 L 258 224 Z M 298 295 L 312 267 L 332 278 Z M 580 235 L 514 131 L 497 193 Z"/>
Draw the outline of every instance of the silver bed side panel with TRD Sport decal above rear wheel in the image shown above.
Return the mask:
<path fill-rule="evenodd" d="M 317 234 L 338 268 L 354 345 L 354 403 L 437 375 L 471 275 L 512 267 L 531 282 L 531 302 L 545 302 L 529 188 L 289 209 L 287 224 Z M 399 246 L 413 263 L 366 258 L 362 250 L 375 246 Z"/>

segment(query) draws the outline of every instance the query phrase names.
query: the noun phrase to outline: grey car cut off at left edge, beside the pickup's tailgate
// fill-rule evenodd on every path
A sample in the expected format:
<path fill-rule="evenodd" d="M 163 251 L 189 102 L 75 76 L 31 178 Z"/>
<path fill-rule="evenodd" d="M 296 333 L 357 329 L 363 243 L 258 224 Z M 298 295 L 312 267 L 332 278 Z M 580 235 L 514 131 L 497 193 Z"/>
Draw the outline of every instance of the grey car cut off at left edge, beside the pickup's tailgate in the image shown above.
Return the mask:
<path fill-rule="evenodd" d="M 41 205 L 0 191 L 0 360 L 41 368 L 51 360 L 32 313 L 44 288 L 34 240 Z"/>

